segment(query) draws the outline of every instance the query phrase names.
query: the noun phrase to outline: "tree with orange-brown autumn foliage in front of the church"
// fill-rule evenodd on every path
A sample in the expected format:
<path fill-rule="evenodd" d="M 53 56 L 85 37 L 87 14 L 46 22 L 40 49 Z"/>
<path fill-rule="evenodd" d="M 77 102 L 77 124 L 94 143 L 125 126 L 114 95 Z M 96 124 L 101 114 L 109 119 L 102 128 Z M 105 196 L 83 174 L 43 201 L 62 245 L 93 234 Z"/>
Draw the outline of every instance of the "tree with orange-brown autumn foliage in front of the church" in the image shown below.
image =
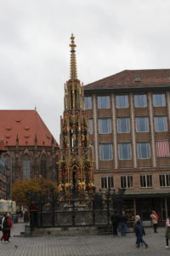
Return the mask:
<path fill-rule="evenodd" d="M 12 199 L 20 205 L 30 206 L 38 196 L 48 196 L 56 192 L 56 185 L 43 177 L 17 180 L 12 186 Z"/>

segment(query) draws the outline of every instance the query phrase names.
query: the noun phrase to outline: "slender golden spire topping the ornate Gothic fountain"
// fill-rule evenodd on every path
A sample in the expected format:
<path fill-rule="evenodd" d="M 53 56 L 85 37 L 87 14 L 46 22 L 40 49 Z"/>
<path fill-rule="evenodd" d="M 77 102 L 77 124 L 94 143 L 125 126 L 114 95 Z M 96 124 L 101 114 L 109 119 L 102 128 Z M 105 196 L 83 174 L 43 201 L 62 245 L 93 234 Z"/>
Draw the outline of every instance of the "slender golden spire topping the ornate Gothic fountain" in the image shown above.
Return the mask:
<path fill-rule="evenodd" d="M 71 34 L 71 80 L 77 79 L 77 60 L 76 60 L 76 50 L 77 44 L 74 42 L 74 36 Z"/>

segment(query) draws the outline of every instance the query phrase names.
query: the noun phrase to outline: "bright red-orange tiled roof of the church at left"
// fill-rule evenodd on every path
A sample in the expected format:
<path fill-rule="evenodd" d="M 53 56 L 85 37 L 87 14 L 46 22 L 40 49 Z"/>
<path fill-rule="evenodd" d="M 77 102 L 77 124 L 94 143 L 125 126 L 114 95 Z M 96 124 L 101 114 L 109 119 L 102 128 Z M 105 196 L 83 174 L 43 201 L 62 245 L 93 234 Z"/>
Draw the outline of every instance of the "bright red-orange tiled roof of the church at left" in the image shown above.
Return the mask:
<path fill-rule="evenodd" d="M 5 145 L 16 145 L 18 136 L 20 146 L 51 146 L 53 136 L 36 110 L 0 110 L 0 139 Z M 54 145 L 58 143 L 54 140 Z"/>

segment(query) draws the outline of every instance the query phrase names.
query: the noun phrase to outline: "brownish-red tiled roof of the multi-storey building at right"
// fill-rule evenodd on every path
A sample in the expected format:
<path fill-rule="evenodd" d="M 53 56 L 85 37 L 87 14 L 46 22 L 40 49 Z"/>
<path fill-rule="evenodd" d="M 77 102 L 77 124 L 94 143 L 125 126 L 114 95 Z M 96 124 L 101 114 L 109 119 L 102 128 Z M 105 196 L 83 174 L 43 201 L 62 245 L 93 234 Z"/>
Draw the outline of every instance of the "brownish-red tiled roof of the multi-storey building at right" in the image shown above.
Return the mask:
<path fill-rule="evenodd" d="M 139 80 L 140 81 L 137 81 Z M 170 69 L 124 70 L 84 86 L 85 90 L 170 86 Z"/>

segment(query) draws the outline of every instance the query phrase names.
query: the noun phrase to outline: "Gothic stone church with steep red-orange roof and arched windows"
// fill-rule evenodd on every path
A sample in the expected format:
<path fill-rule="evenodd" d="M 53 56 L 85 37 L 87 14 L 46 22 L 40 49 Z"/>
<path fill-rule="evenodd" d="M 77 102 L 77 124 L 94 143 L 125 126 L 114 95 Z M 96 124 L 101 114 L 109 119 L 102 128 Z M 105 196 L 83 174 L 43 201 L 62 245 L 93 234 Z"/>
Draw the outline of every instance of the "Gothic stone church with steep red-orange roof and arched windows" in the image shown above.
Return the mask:
<path fill-rule="evenodd" d="M 59 145 L 36 110 L 0 110 L 0 137 L 6 151 L 8 191 L 17 179 L 45 177 L 56 181 Z"/>

